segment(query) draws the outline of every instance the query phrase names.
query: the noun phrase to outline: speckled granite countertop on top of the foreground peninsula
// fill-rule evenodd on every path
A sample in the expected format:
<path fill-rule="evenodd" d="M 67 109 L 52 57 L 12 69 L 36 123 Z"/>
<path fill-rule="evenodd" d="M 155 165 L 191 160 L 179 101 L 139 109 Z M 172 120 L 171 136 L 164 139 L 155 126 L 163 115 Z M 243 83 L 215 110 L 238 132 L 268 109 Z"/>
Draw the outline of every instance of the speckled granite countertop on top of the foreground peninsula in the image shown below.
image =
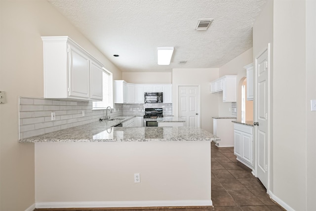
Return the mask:
<path fill-rule="evenodd" d="M 133 116 L 134 117 L 134 116 Z M 123 119 L 122 117 L 118 117 Z M 210 132 L 196 127 L 112 127 L 131 119 L 94 122 L 20 139 L 19 142 L 113 142 L 113 141 L 215 141 Z M 109 123 L 113 122 L 113 123 Z"/>

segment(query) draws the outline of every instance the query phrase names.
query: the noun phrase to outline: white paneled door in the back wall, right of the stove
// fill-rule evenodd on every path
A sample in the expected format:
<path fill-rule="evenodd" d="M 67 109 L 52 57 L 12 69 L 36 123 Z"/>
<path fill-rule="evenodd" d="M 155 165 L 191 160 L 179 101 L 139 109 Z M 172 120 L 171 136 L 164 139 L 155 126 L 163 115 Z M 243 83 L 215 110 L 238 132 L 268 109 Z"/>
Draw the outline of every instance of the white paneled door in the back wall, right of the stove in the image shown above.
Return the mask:
<path fill-rule="evenodd" d="M 186 127 L 200 127 L 198 86 L 179 86 L 178 116 L 185 119 Z"/>

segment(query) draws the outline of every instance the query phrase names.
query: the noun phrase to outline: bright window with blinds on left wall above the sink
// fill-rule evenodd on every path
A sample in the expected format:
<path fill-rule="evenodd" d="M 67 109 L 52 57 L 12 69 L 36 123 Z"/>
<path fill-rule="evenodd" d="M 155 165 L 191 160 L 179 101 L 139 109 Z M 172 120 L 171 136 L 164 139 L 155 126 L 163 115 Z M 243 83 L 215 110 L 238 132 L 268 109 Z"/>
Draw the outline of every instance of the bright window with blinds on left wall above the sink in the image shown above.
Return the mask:
<path fill-rule="evenodd" d="M 93 109 L 106 109 L 108 106 L 113 108 L 113 78 L 112 73 L 103 69 L 103 100 L 92 103 Z"/>

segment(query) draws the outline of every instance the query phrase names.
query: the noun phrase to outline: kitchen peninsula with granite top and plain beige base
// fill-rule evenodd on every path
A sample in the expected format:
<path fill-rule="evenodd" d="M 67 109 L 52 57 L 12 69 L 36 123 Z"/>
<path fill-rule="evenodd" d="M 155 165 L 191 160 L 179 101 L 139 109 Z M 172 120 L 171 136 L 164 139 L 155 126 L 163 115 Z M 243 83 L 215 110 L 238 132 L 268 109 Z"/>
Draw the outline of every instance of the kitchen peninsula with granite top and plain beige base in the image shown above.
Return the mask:
<path fill-rule="evenodd" d="M 212 205 L 210 142 L 216 136 L 195 127 L 109 122 L 20 140 L 35 143 L 37 208 Z"/>

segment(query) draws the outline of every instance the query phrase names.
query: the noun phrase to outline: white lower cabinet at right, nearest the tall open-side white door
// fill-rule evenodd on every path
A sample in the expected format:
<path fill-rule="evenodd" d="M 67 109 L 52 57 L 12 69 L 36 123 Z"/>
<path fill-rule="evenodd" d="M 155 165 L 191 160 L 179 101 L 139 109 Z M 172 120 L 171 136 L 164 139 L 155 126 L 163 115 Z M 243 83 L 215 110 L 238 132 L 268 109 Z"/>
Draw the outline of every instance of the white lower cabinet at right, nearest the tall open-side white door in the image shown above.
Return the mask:
<path fill-rule="evenodd" d="M 253 169 L 253 127 L 235 123 L 234 141 L 237 160 Z"/>

